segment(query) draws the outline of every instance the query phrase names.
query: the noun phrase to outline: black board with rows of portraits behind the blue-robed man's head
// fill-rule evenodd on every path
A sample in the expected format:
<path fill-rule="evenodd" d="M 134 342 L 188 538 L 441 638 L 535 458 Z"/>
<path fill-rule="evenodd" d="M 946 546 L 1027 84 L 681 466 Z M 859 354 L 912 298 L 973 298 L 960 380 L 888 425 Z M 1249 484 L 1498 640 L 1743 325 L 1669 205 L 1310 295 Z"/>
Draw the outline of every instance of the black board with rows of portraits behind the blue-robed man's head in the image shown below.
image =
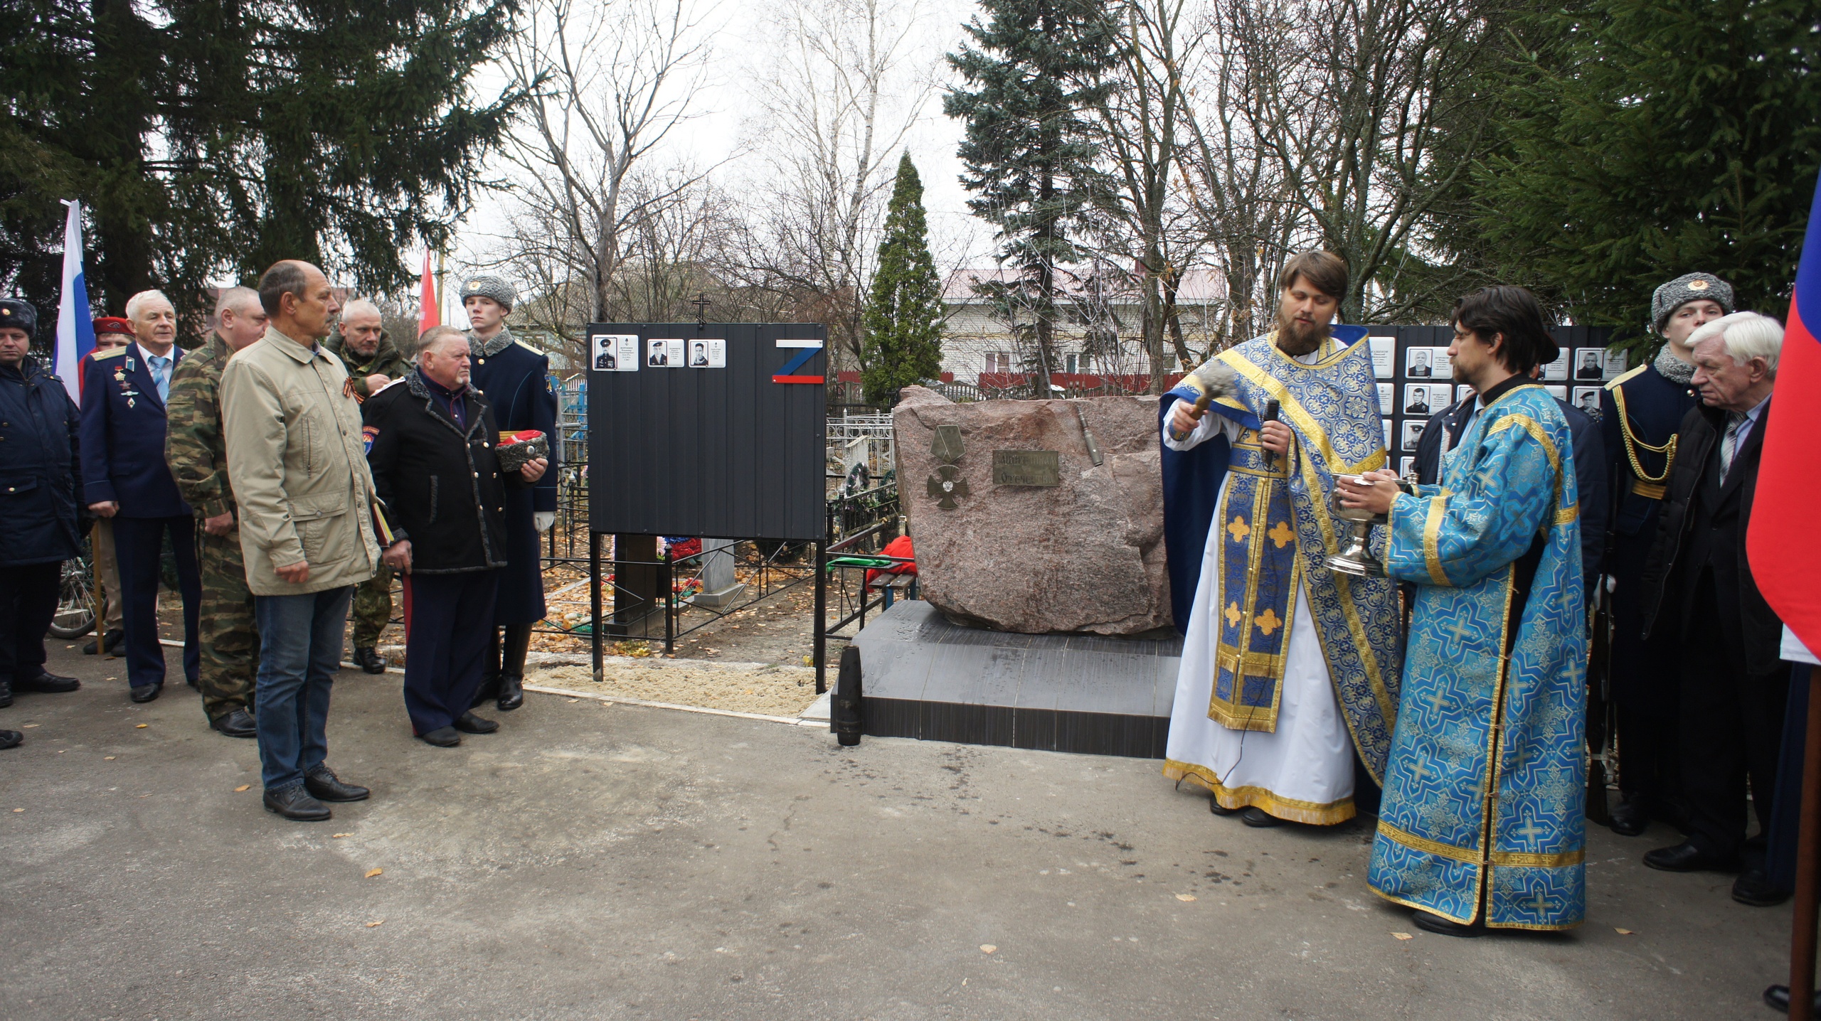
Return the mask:
<path fill-rule="evenodd" d="M 1451 326 L 1371 326 L 1364 340 L 1373 344 L 1373 366 L 1378 379 L 1378 411 L 1388 430 L 1388 466 L 1408 475 L 1417 459 L 1417 440 L 1429 415 L 1468 395 L 1468 388 L 1453 380 L 1448 364 L 1448 346 L 1455 339 Z M 1557 326 L 1550 337 L 1562 348 L 1557 364 L 1546 366 L 1541 380 L 1550 391 L 1575 406 L 1592 400 L 1599 408 L 1599 388 L 1624 371 L 1624 353 L 1608 353 L 1610 329 L 1597 326 Z M 1389 371 L 1386 351 L 1389 349 Z M 1561 379 L 1557 379 L 1561 377 Z"/>

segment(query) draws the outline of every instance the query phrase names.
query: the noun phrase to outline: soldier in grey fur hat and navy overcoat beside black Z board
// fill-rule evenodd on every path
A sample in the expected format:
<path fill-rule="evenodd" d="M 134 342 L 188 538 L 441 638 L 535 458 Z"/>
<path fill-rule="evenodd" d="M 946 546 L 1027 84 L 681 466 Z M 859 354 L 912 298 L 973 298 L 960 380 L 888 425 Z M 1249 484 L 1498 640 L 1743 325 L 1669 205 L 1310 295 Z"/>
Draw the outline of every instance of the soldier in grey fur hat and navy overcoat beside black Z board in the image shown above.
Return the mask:
<path fill-rule="evenodd" d="M 488 653 L 490 679 L 481 684 L 477 703 L 495 699 L 504 712 L 524 703 L 524 652 L 532 624 L 544 619 L 544 573 L 537 553 L 537 533 L 548 531 L 557 517 L 557 395 L 550 389 L 550 357 L 519 342 L 506 328 L 506 315 L 517 298 L 512 284 L 499 277 L 470 277 L 461 288 L 468 311 L 468 353 L 473 360 L 473 388 L 493 406 L 499 430 L 515 433 L 537 430 L 550 442 L 550 468 L 530 488 L 506 490 L 506 568 L 499 571 L 493 602 L 497 653 Z M 497 677 L 497 681 L 493 681 Z"/>

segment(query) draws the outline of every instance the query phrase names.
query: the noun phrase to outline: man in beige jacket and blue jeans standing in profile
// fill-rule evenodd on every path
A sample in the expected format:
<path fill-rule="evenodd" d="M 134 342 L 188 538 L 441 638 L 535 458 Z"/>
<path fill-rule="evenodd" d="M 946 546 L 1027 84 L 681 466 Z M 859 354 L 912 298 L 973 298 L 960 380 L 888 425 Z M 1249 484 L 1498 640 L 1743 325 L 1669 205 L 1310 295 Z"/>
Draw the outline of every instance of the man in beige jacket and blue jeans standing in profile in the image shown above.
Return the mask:
<path fill-rule="evenodd" d="M 335 295 L 308 262 L 259 280 L 271 324 L 222 371 L 228 477 L 259 622 L 259 761 L 266 810 L 315 823 L 361 801 L 324 763 L 331 675 L 353 586 L 373 577 L 373 477 L 348 369 L 320 346 Z"/>

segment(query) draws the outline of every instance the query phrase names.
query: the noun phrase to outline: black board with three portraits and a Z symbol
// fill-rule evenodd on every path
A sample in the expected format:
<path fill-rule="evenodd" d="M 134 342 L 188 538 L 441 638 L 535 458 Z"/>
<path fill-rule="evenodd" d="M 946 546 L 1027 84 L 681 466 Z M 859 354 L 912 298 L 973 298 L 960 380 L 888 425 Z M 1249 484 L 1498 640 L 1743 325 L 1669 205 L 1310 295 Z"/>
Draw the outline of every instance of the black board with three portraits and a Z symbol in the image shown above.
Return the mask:
<path fill-rule="evenodd" d="M 825 326 L 610 322 L 586 339 L 594 531 L 823 541 Z"/>

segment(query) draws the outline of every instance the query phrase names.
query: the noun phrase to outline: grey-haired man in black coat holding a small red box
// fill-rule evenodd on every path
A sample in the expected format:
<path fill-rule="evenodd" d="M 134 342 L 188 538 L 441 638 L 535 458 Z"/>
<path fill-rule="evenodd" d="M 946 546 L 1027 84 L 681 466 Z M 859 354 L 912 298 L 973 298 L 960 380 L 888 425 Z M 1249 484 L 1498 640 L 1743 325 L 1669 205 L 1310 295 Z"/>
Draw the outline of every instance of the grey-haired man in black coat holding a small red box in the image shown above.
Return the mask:
<path fill-rule="evenodd" d="M 486 666 L 499 570 L 506 566 L 506 490 L 543 477 L 534 459 L 499 470 L 493 408 L 468 384 L 468 337 L 439 326 L 417 369 L 362 408 L 373 490 L 390 535 L 386 566 L 404 575 L 404 710 L 412 732 L 452 748 L 499 724 L 468 712 Z"/>

